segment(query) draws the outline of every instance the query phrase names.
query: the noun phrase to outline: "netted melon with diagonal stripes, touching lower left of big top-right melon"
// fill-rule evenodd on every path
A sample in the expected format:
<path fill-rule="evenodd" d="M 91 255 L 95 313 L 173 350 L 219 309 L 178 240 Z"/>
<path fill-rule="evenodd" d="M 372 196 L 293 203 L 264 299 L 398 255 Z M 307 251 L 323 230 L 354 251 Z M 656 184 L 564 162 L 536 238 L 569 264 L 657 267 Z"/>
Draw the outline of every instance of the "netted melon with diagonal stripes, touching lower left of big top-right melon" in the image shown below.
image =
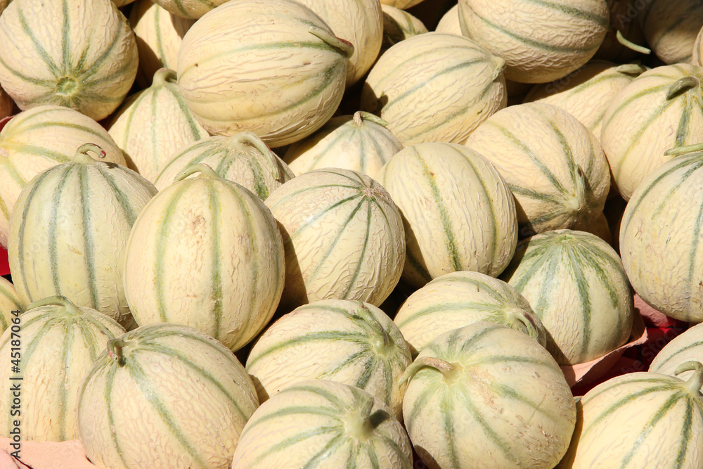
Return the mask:
<path fill-rule="evenodd" d="M 505 108 L 502 58 L 456 34 L 427 32 L 378 58 L 361 90 L 361 110 L 388 122 L 404 145 L 464 143 Z"/>

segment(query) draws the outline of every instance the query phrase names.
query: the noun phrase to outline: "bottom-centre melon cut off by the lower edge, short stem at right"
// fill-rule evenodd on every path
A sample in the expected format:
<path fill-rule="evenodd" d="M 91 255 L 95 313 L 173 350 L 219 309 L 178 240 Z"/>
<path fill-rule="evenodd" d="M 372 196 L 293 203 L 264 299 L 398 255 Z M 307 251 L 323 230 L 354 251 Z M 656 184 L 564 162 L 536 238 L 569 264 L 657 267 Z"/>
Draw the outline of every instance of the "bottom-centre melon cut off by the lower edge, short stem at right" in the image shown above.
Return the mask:
<path fill-rule="evenodd" d="M 412 469 L 403 425 L 358 387 L 305 380 L 264 402 L 242 430 L 232 467 Z"/>

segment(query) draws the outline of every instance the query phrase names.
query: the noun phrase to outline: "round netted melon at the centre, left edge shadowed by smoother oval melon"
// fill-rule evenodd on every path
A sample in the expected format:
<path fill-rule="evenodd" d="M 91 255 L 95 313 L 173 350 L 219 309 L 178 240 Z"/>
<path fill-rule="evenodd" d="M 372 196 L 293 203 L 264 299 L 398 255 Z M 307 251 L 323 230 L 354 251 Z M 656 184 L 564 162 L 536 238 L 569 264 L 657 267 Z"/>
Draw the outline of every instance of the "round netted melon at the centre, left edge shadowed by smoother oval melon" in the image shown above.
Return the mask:
<path fill-rule="evenodd" d="M 326 299 L 379 306 L 398 283 L 406 240 L 401 213 L 366 174 L 316 169 L 277 188 L 266 205 L 285 245 L 283 312 Z"/>

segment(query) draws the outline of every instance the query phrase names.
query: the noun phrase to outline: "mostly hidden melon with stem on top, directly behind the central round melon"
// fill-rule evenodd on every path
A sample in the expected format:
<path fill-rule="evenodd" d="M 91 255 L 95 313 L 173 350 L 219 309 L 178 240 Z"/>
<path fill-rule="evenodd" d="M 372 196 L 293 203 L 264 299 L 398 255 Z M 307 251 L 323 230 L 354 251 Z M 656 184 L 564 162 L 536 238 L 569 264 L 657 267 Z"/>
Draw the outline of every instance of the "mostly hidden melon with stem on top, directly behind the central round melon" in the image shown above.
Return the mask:
<path fill-rule="evenodd" d="M 283 160 L 295 174 L 336 167 L 374 177 L 403 144 L 388 122 L 363 111 L 333 117 L 306 139 L 293 143 Z"/>

